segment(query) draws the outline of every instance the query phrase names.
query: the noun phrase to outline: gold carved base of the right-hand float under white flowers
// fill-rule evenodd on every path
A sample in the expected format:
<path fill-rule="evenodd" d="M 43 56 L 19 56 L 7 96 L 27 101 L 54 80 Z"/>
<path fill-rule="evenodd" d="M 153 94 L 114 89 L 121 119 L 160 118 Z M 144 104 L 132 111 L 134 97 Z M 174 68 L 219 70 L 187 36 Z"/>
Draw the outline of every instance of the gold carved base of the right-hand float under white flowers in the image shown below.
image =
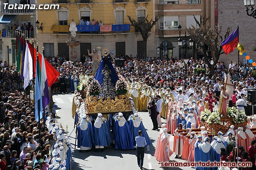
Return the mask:
<path fill-rule="evenodd" d="M 230 128 L 230 125 L 234 125 L 234 129 L 238 129 L 238 127 L 245 128 L 247 125 L 247 121 L 245 121 L 244 123 L 237 124 L 233 121 L 232 118 L 229 118 L 229 117 L 222 117 L 220 118 L 220 121 L 222 122 L 222 125 L 217 125 L 217 124 L 210 125 L 206 122 L 201 122 L 200 127 L 204 126 L 206 131 L 210 133 L 216 134 L 219 131 L 221 131 L 223 134 L 225 134 Z"/>

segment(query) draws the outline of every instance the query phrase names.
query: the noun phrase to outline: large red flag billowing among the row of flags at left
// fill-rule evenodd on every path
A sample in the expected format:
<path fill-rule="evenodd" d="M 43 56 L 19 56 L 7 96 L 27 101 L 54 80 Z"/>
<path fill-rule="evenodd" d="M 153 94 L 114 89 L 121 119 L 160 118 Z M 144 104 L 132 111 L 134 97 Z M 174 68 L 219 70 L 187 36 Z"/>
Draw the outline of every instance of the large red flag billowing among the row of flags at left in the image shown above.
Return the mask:
<path fill-rule="evenodd" d="M 32 54 L 32 44 L 28 43 L 28 47 L 31 53 L 31 56 L 33 57 Z M 38 54 L 39 57 L 39 61 L 40 61 L 40 66 L 42 64 L 42 55 L 39 53 Z M 45 60 L 45 59 L 44 59 Z M 36 49 L 34 48 L 34 77 L 36 76 Z M 46 75 L 47 75 L 47 80 L 48 80 L 48 86 L 52 86 L 52 84 L 54 84 L 54 82 L 58 82 L 58 76 L 60 75 L 60 73 L 50 64 L 48 63 L 47 60 L 45 60 L 45 68 L 46 68 Z"/>

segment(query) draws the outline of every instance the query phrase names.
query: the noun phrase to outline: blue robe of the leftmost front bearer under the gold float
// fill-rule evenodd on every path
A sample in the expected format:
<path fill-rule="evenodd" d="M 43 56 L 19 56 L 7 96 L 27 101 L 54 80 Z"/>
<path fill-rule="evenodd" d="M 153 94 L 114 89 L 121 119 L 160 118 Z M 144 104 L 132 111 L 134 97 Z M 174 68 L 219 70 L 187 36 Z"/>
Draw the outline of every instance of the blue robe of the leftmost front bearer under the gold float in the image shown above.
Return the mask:
<path fill-rule="evenodd" d="M 77 147 L 93 147 L 94 146 L 94 133 L 92 129 L 92 123 L 87 122 L 87 129 L 82 131 L 80 125 L 77 127 Z"/>

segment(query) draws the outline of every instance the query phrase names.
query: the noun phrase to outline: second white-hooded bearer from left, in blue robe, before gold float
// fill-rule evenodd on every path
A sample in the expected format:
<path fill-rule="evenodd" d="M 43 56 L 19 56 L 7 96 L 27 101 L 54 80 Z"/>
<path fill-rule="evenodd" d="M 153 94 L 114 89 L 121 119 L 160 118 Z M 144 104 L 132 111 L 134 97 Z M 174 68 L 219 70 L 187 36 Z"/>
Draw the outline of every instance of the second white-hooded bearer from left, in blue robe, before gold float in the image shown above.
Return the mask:
<path fill-rule="evenodd" d="M 112 137 L 106 121 L 106 119 L 103 121 L 102 114 L 98 113 L 98 117 L 94 123 L 95 152 L 98 152 L 98 149 L 103 151 L 104 147 L 111 144 Z"/>

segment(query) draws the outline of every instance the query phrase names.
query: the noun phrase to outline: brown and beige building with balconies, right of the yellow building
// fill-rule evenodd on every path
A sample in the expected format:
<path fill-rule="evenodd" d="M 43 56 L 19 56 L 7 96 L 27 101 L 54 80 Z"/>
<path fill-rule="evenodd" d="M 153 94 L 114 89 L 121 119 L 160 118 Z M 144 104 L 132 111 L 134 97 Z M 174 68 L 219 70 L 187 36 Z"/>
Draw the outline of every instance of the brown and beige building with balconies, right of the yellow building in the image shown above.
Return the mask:
<path fill-rule="evenodd" d="M 216 4 L 216 6 L 215 6 Z M 195 51 L 194 47 L 189 47 L 188 40 L 190 37 L 186 36 L 187 51 L 185 55 L 185 42 L 182 46 L 178 46 L 178 39 L 180 37 L 178 26 L 181 25 L 181 38 L 185 40 L 185 31 L 191 25 L 196 27 L 196 21 L 200 20 L 200 16 L 210 17 L 208 23 L 210 27 L 217 25 L 218 20 L 218 2 L 217 0 L 158 0 L 155 3 L 155 15 L 159 16 L 158 24 L 156 24 L 156 45 L 159 47 L 156 51 L 157 57 L 168 55 L 168 57 L 190 58 Z M 194 16 L 193 16 L 194 15 Z M 218 17 L 217 17 L 218 19 Z M 216 21 L 216 23 L 215 23 Z M 164 41 L 172 43 L 172 49 L 163 48 Z"/>

